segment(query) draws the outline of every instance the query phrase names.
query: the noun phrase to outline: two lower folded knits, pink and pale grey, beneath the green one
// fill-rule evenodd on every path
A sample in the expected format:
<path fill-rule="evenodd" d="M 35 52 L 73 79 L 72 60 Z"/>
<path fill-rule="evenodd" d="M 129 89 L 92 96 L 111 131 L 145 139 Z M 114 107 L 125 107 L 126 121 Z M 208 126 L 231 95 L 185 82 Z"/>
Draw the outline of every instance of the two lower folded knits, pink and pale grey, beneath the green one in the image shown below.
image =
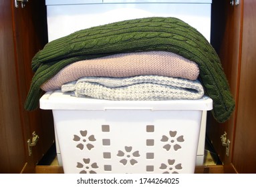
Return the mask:
<path fill-rule="evenodd" d="M 119 53 L 72 63 L 43 83 L 106 100 L 195 100 L 204 95 L 197 63 L 168 51 Z"/>

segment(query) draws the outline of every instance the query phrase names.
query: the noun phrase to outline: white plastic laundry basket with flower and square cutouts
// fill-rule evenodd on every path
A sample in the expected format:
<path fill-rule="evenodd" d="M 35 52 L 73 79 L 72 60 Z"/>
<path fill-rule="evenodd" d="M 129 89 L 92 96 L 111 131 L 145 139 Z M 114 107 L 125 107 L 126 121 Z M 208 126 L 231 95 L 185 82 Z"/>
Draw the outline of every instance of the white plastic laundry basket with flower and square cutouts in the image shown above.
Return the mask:
<path fill-rule="evenodd" d="M 47 92 L 65 173 L 194 173 L 211 98 L 110 101 Z"/>

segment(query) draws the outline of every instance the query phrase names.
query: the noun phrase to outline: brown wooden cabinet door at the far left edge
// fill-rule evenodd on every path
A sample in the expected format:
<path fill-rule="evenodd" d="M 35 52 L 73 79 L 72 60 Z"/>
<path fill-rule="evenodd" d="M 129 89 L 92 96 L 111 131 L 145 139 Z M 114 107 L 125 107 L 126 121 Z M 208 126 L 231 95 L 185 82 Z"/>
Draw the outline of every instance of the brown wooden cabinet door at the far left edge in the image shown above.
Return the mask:
<path fill-rule="evenodd" d="M 11 1 L 0 3 L 0 173 L 27 165 L 17 85 Z"/>

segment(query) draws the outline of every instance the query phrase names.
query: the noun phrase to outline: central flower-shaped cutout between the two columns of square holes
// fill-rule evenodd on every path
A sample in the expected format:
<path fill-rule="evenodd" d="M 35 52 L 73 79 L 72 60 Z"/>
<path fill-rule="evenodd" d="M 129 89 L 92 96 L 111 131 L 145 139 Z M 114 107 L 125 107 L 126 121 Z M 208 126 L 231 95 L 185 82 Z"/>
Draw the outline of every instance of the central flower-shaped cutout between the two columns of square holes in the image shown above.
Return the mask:
<path fill-rule="evenodd" d="M 130 161 L 130 164 L 133 166 L 134 164 L 138 163 L 133 157 L 140 157 L 140 153 L 138 151 L 132 152 L 132 146 L 125 146 L 124 149 L 126 152 L 122 152 L 121 150 L 118 151 L 117 156 L 124 157 L 120 160 L 120 163 L 124 164 L 124 166 Z"/>

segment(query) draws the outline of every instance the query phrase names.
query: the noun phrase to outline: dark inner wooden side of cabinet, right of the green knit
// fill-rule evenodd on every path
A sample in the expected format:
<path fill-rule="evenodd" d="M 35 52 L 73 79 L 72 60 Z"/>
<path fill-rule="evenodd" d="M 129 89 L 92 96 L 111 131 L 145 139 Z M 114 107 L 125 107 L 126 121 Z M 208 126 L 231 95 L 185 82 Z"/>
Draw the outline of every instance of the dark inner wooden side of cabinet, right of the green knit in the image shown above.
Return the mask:
<path fill-rule="evenodd" d="M 236 101 L 235 112 L 231 118 L 219 124 L 210 114 L 207 120 L 207 136 L 213 143 L 227 172 L 235 172 L 231 162 L 233 157 L 234 132 L 237 114 L 237 95 L 239 68 L 241 57 L 241 13 L 243 1 L 239 5 L 231 5 L 229 0 L 213 0 L 211 43 L 215 47 L 229 81 L 231 93 Z M 227 133 L 230 141 L 229 152 L 221 144 L 221 136 Z"/>

